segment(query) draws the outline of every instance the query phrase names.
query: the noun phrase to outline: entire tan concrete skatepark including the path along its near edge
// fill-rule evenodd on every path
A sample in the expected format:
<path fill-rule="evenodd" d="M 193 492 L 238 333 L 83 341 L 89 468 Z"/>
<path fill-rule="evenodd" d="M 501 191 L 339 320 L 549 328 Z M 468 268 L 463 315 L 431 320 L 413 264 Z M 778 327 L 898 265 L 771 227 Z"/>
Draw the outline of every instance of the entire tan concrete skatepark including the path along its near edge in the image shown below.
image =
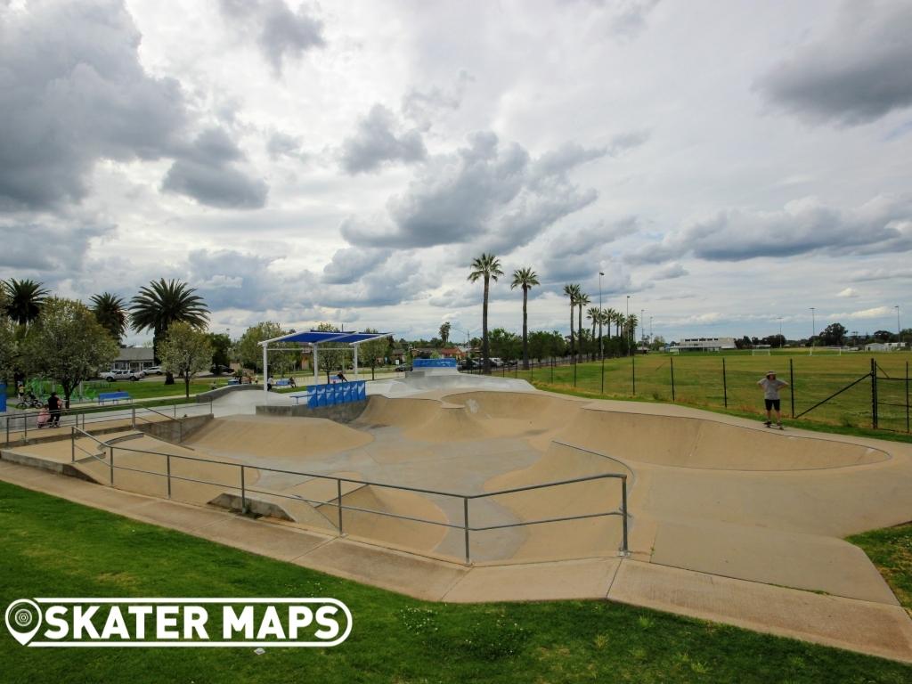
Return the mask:
<path fill-rule="evenodd" d="M 507 378 L 414 373 L 368 388 L 363 410 L 345 424 L 257 414 L 264 393 L 234 392 L 180 444 L 130 428 L 80 436 L 79 453 L 97 458 L 70 465 L 108 484 L 113 451 L 115 489 L 71 483 L 129 492 L 142 510 L 229 516 L 251 536 L 264 534 L 255 528 L 322 539 L 293 562 L 413 596 L 607 596 L 912 661 L 907 613 L 843 540 L 912 520 L 912 445 L 575 399 Z M 268 403 L 292 401 L 271 393 Z M 66 463 L 71 446 L 17 446 L 3 459 Z M 16 467 L 4 464 L 0 476 Z M 245 497 L 265 516 L 255 522 L 231 513 L 242 470 Z M 465 564 L 461 495 L 606 473 L 627 475 L 628 557 L 618 553 L 617 514 L 518 524 L 617 513 L 620 482 L 598 479 L 472 499 L 472 526 L 498 528 L 472 532 Z M 245 544 L 256 543 L 237 540 L 254 550 Z"/>

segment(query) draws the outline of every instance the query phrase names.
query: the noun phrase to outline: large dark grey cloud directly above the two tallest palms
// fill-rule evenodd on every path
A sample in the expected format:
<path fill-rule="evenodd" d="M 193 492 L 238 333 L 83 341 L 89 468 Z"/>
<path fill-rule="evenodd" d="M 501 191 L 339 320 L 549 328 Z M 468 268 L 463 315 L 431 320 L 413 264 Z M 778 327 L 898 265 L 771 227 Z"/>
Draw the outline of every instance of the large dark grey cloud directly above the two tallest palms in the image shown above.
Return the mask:
<path fill-rule="evenodd" d="M 595 190 L 580 190 L 567 172 L 602 153 L 575 148 L 532 160 L 520 145 L 475 133 L 460 150 L 430 158 L 408 191 L 390 198 L 389 223 L 349 218 L 341 233 L 357 245 L 471 243 L 509 252 L 596 200 Z"/>

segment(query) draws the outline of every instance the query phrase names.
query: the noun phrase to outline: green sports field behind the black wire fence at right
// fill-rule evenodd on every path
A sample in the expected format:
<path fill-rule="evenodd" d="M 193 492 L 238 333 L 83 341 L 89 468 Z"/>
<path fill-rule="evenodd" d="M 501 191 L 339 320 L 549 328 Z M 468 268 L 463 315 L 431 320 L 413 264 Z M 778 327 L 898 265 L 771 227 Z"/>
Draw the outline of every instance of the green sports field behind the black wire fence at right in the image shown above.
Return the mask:
<path fill-rule="evenodd" d="M 726 354 L 649 354 L 636 358 L 610 358 L 605 361 L 604 395 L 602 394 L 602 364 L 586 362 L 557 368 L 498 370 L 510 377 L 530 380 L 541 389 L 568 389 L 611 398 L 671 401 L 671 373 L 674 368 L 674 400 L 691 406 L 739 411 L 758 418 L 763 414 L 763 395 L 757 387 L 768 370 L 775 370 L 781 379 L 790 381 L 792 362 L 793 388 L 782 392 L 782 414 L 791 415 L 792 393 L 795 414 L 810 409 L 815 403 L 844 388 L 871 369 L 871 358 L 878 364 L 877 391 L 880 401 L 879 427 L 882 430 L 907 431 L 906 382 L 912 354 L 894 352 L 870 354 L 818 350 L 809 356 L 807 350 L 782 350 L 770 356 L 751 356 L 750 352 Z M 722 362 L 725 363 L 723 384 Z M 574 381 L 575 372 L 575 381 Z M 891 406 L 898 404 L 901 406 Z M 806 420 L 845 427 L 871 426 L 871 381 L 865 379 L 854 388 L 814 409 Z"/>

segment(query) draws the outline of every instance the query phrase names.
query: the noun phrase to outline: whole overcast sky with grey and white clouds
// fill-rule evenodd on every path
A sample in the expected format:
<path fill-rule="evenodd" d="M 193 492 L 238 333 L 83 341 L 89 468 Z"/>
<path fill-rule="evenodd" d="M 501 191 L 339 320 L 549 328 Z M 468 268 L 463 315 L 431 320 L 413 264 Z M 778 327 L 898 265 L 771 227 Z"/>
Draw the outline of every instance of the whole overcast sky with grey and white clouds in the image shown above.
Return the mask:
<path fill-rule="evenodd" d="M 907 327 L 910 35 L 899 0 L 0 0 L 0 277 L 460 339 L 492 251 L 534 328 L 599 270 L 668 339 Z"/>

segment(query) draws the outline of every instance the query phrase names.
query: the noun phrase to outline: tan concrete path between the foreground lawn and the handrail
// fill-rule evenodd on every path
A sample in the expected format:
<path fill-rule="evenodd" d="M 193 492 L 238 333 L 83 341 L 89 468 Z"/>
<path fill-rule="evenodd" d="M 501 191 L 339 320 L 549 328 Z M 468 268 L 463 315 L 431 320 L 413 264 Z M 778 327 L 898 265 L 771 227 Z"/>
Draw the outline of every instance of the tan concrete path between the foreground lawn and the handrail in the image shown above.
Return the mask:
<path fill-rule="evenodd" d="M 900 606 L 878 601 L 814 594 L 629 558 L 467 567 L 111 489 L 9 461 L 0 461 L 0 479 L 420 599 L 461 603 L 607 599 L 912 663 L 912 619 Z"/>

